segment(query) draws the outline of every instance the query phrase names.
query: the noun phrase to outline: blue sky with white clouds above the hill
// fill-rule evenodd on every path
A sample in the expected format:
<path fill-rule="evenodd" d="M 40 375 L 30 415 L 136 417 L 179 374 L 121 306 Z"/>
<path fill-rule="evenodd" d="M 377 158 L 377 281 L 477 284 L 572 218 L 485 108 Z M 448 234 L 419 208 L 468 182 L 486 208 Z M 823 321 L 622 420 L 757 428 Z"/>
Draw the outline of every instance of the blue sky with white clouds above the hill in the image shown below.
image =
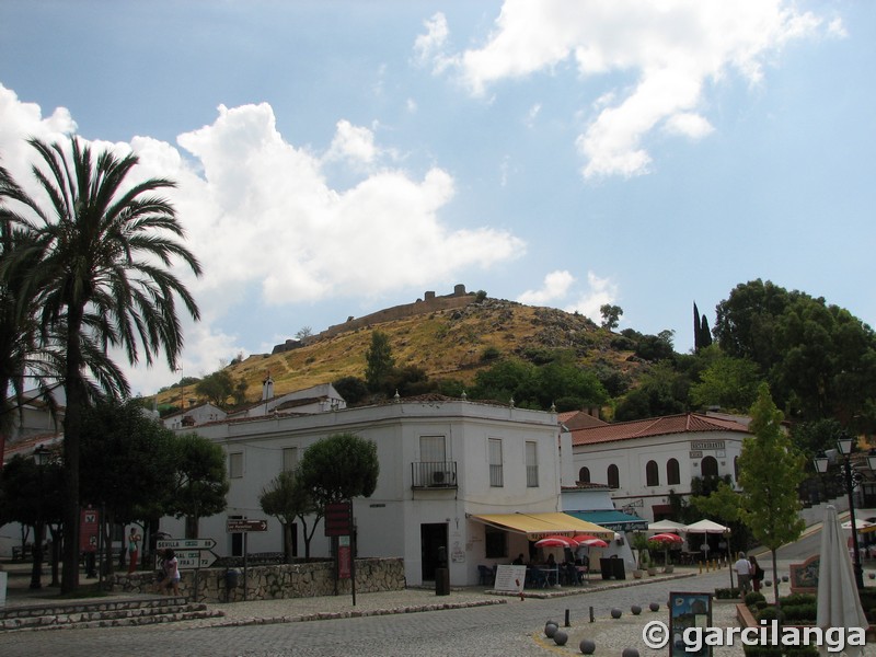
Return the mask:
<path fill-rule="evenodd" d="M 876 324 L 875 68 L 851 0 L 3 0 L 0 161 L 177 182 L 185 376 L 457 284 L 688 353 L 757 278 Z"/>

